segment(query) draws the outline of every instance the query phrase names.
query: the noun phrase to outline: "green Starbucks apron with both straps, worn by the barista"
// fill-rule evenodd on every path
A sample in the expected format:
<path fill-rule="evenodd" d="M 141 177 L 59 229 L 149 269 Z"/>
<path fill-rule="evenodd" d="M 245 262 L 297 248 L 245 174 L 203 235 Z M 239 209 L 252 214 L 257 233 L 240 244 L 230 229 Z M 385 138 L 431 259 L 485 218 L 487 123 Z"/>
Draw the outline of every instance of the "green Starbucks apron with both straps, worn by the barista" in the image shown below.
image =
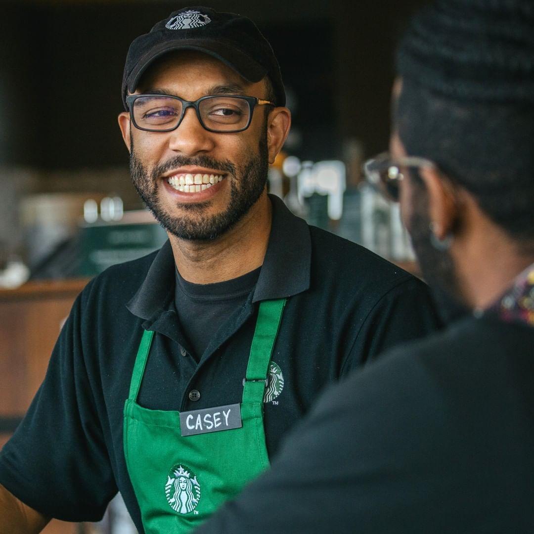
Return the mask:
<path fill-rule="evenodd" d="M 154 335 L 144 331 L 124 404 L 124 456 L 147 534 L 198 527 L 269 466 L 263 395 L 285 303 L 260 303 L 241 404 L 182 412 L 181 425 L 180 412 L 136 402 Z M 222 430 L 239 410 L 242 426 Z"/>

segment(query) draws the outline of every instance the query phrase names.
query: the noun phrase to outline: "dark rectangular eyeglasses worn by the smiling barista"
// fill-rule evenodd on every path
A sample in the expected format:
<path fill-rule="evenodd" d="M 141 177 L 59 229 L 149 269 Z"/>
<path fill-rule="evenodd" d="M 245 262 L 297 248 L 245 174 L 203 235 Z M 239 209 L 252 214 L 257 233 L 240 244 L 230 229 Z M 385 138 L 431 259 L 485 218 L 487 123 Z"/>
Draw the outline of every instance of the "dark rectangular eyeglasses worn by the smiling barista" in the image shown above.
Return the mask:
<path fill-rule="evenodd" d="M 276 106 L 240 95 L 210 95 L 194 102 L 170 95 L 130 95 L 126 102 L 133 125 L 148 132 L 176 130 L 188 107 L 195 109 L 200 124 L 210 132 L 241 132 L 249 127 L 254 106 Z"/>

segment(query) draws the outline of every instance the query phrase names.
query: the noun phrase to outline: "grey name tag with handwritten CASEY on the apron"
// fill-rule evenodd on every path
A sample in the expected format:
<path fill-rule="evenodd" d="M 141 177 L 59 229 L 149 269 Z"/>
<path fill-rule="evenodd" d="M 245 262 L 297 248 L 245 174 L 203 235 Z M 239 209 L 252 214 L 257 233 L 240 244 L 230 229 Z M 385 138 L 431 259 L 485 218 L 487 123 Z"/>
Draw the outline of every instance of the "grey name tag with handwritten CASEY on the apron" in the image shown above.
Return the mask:
<path fill-rule="evenodd" d="M 205 410 L 192 410 L 180 413 L 180 429 L 182 436 L 207 434 L 231 428 L 241 428 L 241 406 L 228 404 Z"/>

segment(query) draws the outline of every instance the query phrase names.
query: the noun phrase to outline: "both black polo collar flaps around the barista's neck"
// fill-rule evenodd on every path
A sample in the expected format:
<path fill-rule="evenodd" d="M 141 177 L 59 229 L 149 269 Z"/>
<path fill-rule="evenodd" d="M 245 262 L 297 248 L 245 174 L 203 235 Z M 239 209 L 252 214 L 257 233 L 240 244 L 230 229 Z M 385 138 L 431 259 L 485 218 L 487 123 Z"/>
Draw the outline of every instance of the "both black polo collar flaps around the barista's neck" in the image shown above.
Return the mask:
<path fill-rule="evenodd" d="M 289 211 L 284 202 L 269 195 L 272 225 L 260 277 L 252 302 L 290 297 L 309 289 L 311 237 L 308 224 Z M 142 319 L 153 319 L 168 310 L 174 298 L 175 263 L 170 241 L 154 257 L 145 280 L 126 307 Z"/>

